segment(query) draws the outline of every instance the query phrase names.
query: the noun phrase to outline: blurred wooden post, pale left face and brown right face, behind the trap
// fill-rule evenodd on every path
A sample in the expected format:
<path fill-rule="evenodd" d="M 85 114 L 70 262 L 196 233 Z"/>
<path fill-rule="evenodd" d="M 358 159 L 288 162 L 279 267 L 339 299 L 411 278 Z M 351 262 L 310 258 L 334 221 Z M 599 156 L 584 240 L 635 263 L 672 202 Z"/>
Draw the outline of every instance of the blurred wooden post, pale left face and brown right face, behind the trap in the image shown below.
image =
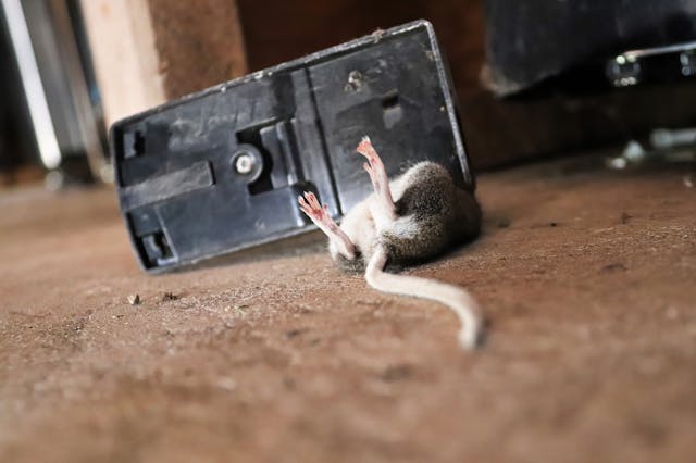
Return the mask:
<path fill-rule="evenodd" d="M 83 0 L 108 125 L 246 73 L 235 0 Z"/>

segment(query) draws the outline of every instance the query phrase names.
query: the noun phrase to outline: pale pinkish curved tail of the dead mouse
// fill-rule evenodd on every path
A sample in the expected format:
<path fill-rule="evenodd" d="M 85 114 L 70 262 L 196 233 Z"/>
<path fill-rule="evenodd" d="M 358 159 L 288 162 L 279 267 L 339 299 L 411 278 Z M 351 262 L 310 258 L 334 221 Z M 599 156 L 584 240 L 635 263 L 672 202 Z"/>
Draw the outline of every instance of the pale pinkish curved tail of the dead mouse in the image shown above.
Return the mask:
<path fill-rule="evenodd" d="M 480 340 L 482 323 L 478 304 L 467 290 L 458 286 L 410 275 L 384 272 L 387 252 L 378 246 L 365 270 L 368 285 L 378 291 L 430 299 L 447 305 L 459 318 L 459 342 L 464 349 L 474 349 Z"/>

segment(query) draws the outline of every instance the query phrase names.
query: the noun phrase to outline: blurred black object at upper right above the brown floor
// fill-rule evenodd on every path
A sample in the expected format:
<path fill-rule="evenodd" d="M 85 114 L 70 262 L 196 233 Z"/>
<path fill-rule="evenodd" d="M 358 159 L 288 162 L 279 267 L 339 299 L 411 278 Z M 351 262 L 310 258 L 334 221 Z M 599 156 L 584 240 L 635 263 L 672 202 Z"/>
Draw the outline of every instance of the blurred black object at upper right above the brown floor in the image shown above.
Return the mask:
<path fill-rule="evenodd" d="M 576 75 L 623 50 L 696 40 L 694 1 L 485 0 L 485 8 L 488 84 L 499 96 Z M 627 74 L 618 82 L 631 83 L 634 66 L 617 64 Z"/>

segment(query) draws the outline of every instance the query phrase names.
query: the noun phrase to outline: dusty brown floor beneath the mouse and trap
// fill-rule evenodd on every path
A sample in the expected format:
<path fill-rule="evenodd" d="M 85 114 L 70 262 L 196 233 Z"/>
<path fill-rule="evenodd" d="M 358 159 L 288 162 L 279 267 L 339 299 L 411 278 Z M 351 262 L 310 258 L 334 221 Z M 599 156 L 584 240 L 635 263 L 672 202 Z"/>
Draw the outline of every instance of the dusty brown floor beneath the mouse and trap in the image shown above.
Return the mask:
<path fill-rule="evenodd" d="M 693 461 L 694 182 L 481 176 L 481 239 L 409 271 L 478 298 L 475 353 L 319 235 L 148 276 L 112 190 L 2 192 L 0 461 Z"/>

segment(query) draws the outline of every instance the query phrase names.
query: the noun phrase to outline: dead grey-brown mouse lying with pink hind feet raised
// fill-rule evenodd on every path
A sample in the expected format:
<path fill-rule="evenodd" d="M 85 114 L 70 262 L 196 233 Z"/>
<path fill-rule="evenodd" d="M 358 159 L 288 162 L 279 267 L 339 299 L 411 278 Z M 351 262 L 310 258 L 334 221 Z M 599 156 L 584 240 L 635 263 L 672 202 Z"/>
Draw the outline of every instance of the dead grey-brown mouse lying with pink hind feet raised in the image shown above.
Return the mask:
<path fill-rule="evenodd" d="M 458 188 L 445 167 L 430 161 L 389 182 L 369 137 L 356 150 L 368 159 L 364 168 L 374 192 L 346 214 L 340 227 L 311 192 L 298 198 L 300 209 L 328 236 L 331 255 L 343 267 L 364 268 L 368 284 L 380 291 L 447 305 L 460 320 L 460 343 L 476 347 L 482 322 L 464 289 L 385 272 L 387 265 L 423 262 L 474 239 L 481 230 L 481 208 L 473 193 Z"/>

